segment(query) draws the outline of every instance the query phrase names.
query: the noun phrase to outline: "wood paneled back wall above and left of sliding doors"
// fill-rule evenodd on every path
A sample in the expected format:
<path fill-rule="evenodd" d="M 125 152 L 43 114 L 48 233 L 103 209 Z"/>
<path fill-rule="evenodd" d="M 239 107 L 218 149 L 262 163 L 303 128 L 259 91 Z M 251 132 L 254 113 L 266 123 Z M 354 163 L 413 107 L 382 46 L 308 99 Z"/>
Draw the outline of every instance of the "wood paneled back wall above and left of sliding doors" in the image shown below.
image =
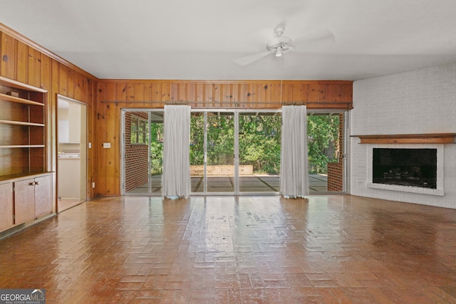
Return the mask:
<path fill-rule="evenodd" d="M 100 80 L 97 89 L 98 187 L 100 195 L 120 194 L 120 110 L 165 104 L 192 108 L 278 109 L 304 104 L 309 110 L 350 110 L 351 81 L 331 80 Z M 111 148 L 103 149 L 103 142 Z"/>

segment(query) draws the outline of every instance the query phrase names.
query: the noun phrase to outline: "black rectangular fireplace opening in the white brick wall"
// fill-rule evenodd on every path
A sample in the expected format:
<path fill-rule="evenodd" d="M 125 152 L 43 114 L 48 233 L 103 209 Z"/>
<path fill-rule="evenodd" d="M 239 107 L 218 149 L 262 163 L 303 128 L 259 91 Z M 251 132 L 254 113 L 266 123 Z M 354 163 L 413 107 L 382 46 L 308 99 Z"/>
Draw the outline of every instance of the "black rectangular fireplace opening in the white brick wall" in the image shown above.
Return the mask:
<path fill-rule="evenodd" d="M 437 149 L 373 148 L 374 184 L 437 189 Z"/>

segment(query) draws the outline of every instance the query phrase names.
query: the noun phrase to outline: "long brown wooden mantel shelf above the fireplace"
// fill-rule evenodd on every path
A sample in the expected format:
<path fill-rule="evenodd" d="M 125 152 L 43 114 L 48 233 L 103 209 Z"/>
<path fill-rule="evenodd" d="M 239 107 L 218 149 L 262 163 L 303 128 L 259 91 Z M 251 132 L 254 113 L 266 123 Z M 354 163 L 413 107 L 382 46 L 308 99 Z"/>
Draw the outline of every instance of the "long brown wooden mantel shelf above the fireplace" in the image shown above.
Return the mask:
<path fill-rule="evenodd" d="M 456 133 L 351 135 L 359 137 L 360 144 L 454 144 Z"/>

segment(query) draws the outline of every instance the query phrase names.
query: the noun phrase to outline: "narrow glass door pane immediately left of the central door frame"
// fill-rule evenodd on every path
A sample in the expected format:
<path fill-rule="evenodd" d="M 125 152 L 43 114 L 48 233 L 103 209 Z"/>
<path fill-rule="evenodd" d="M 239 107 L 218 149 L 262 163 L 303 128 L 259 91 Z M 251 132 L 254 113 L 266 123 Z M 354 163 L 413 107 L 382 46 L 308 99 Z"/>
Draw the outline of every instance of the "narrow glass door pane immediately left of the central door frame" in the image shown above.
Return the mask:
<path fill-rule="evenodd" d="M 207 112 L 207 192 L 234 192 L 234 112 Z"/>

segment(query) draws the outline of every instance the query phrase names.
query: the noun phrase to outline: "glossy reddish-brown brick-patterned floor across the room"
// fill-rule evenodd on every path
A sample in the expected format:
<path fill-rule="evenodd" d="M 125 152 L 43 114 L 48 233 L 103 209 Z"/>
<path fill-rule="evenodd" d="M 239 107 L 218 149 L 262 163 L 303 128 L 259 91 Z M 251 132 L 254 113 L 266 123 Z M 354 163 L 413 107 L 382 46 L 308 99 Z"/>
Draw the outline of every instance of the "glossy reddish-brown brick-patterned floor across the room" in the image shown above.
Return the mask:
<path fill-rule="evenodd" d="M 46 303 L 456 303 L 456 210 L 358 196 L 96 199 L 0 240 Z"/>

